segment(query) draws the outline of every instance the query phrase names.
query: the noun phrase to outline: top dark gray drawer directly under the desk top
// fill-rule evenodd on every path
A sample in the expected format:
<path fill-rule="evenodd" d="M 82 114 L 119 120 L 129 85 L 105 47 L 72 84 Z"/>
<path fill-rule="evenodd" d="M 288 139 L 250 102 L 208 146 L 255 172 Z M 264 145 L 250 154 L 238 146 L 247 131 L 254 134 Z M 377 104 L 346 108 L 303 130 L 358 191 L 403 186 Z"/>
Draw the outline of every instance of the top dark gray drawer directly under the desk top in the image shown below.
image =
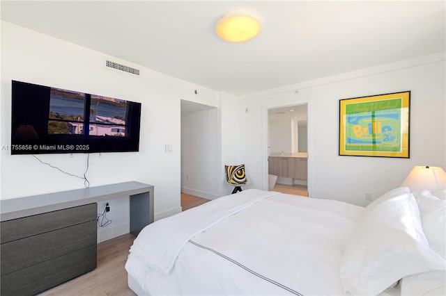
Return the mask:
<path fill-rule="evenodd" d="M 63 227 L 96 220 L 98 204 L 75 206 L 60 211 L 48 212 L 20 219 L 3 221 L 1 227 L 1 243 L 35 236 Z"/>

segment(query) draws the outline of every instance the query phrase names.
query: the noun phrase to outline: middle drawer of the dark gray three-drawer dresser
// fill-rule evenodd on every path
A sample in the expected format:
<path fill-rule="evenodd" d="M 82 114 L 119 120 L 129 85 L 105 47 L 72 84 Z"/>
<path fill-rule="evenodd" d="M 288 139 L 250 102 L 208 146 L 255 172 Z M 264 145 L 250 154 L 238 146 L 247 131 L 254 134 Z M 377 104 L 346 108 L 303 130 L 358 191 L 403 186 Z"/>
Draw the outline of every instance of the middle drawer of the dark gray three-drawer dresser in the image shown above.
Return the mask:
<path fill-rule="evenodd" d="M 96 220 L 1 245 L 1 275 L 96 245 Z"/>

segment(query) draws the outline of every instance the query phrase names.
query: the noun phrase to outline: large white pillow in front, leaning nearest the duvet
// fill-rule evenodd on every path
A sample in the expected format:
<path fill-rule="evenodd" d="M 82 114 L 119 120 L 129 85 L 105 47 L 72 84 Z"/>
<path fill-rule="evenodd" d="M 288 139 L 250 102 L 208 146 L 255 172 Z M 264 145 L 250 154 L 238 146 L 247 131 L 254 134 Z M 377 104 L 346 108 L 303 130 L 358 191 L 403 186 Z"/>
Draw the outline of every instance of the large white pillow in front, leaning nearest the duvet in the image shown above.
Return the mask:
<path fill-rule="evenodd" d="M 445 270 L 443 258 L 429 248 L 407 188 L 387 192 L 369 206 L 341 260 L 346 293 L 377 295 L 409 274 Z"/>

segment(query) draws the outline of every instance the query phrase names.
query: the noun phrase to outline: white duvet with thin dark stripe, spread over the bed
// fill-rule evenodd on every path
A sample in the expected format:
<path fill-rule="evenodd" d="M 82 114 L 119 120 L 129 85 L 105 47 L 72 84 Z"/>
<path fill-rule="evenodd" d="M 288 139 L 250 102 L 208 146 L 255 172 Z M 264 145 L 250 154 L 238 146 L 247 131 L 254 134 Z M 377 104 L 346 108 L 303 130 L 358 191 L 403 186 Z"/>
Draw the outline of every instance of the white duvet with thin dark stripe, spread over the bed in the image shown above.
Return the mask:
<path fill-rule="evenodd" d="M 364 208 L 245 190 L 148 225 L 125 269 L 151 295 L 344 295 Z"/>

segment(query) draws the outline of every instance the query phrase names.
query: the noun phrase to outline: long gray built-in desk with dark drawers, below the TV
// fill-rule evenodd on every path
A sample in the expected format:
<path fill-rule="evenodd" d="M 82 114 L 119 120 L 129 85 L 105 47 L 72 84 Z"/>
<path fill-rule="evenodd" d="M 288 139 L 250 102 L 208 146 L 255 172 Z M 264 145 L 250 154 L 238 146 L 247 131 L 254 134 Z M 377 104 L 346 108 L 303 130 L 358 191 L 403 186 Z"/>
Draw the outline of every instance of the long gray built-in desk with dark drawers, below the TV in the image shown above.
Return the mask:
<path fill-rule="evenodd" d="M 95 269 L 97 203 L 130 196 L 137 236 L 153 222 L 153 191 L 125 182 L 1 200 L 1 295 L 35 295 Z"/>

